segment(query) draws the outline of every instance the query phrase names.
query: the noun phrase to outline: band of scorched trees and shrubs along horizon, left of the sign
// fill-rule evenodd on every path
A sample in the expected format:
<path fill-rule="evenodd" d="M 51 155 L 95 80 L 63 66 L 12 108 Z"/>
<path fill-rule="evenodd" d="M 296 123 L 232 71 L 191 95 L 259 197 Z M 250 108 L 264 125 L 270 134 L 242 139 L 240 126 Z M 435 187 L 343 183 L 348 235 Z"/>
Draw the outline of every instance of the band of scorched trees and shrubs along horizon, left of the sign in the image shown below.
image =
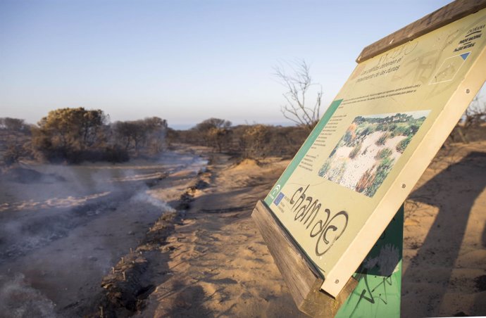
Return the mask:
<path fill-rule="evenodd" d="M 0 118 L 0 154 L 6 165 L 23 158 L 51 163 L 118 163 L 154 158 L 170 144 L 183 143 L 242 158 L 292 157 L 308 134 L 306 127 L 232 126 L 218 118 L 204 120 L 189 130 L 174 130 L 159 117 L 111 123 L 103 110 L 61 108 L 50 111 L 37 125 Z"/>

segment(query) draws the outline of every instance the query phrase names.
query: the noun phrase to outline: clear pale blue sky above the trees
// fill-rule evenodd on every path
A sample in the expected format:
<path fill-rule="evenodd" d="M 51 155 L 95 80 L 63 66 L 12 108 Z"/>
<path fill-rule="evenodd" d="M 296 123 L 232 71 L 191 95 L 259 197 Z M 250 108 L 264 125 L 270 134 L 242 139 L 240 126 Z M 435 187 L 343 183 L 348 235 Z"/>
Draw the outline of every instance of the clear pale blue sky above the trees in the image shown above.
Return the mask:
<path fill-rule="evenodd" d="M 309 63 L 325 109 L 365 46 L 448 3 L 0 0 L 0 117 L 292 124 L 276 65 Z"/>

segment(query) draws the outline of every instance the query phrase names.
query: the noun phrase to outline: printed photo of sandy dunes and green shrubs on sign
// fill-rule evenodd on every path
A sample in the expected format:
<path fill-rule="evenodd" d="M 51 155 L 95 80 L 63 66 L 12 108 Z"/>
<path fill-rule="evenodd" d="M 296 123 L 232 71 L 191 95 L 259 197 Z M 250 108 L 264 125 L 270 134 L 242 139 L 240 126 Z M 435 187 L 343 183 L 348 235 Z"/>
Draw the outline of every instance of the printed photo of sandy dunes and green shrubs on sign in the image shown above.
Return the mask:
<path fill-rule="evenodd" d="M 373 197 L 430 110 L 354 118 L 318 175 Z"/>

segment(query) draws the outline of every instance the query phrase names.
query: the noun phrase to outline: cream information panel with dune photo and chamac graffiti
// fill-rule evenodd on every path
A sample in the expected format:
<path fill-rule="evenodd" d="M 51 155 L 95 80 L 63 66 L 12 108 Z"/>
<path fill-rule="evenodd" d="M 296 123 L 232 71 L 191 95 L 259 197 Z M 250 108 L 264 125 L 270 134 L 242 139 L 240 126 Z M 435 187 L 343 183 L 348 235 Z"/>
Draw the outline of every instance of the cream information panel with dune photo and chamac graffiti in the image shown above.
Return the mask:
<path fill-rule="evenodd" d="M 331 295 L 485 81 L 485 25 L 482 10 L 357 65 L 268 193 L 266 204 Z"/>

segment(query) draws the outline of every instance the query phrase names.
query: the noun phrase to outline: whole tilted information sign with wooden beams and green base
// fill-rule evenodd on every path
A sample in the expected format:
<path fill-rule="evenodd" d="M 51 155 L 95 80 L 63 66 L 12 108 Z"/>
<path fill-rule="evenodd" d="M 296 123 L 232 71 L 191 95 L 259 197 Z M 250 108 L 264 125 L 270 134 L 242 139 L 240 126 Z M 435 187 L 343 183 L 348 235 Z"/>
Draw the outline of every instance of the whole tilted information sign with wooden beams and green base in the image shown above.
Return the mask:
<path fill-rule="evenodd" d="M 400 206 L 485 82 L 485 8 L 454 1 L 363 49 L 256 205 L 252 217 L 301 311 L 399 316 Z"/>

